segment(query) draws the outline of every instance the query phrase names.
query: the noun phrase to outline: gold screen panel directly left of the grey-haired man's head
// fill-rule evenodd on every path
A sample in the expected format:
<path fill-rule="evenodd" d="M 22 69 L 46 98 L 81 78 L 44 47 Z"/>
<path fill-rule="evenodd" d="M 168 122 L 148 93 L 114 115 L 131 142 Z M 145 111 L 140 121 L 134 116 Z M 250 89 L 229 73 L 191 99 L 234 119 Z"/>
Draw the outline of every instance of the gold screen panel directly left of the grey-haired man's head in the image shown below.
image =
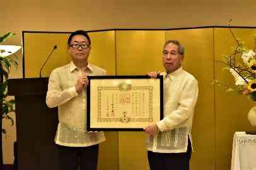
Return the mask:
<path fill-rule="evenodd" d="M 163 70 L 164 31 L 116 31 L 117 75 Z M 144 132 L 119 132 L 119 169 L 148 169 Z"/>

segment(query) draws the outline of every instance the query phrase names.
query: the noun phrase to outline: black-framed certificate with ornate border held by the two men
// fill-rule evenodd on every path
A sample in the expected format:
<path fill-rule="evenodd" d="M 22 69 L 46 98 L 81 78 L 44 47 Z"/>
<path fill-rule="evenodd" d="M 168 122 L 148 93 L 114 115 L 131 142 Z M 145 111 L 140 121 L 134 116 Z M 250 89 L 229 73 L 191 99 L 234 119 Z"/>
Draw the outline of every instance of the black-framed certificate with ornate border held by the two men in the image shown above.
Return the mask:
<path fill-rule="evenodd" d="M 87 130 L 143 130 L 163 118 L 163 77 L 88 76 Z"/>

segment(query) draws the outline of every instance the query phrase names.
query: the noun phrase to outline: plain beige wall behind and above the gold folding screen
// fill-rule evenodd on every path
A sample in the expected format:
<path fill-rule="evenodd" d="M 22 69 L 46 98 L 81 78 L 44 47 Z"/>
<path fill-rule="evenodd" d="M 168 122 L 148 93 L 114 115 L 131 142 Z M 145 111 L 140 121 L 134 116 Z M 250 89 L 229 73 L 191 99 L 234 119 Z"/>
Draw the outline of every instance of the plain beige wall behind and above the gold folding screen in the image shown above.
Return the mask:
<path fill-rule="evenodd" d="M 230 18 L 234 26 L 256 26 L 254 0 L 243 1 L 1 1 L 0 33 L 7 31 L 18 35 L 8 44 L 21 44 L 21 31 L 73 31 L 102 30 L 105 28 L 184 28 L 192 26 L 227 25 Z M 21 77 L 21 52 L 18 69 L 11 70 L 11 77 Z M 218 89 L 217 89 L 218 90 Z M 219 91 L 221 91 L 219 89 Z M 218 92 L 220 93 L 220 92 Z M 218 97 L 218 96 L 217 96 Z M 235 98 L 238 98 L 237 96 Z M 245 103 L 245 99 L 242 100 Z M 249 104 L 248 104 L 249 105 Z M 250 103 L 250 106 L 252 103 Z M 217 108 L 221 111 L 222 106 Z M 223 112 L 219 112 L 223 113 Z M 244 116 L 245 118 L 245 116 Z M 216 116 L 216 120 L 221 117 Z M 228 119 L 228 118 L 227 118 Z M 202 120 L 203 121 L 203 120 Z M 223 120 L 222 120 L 223 121 Z M 226 122 L 223 122 L 226 123 Z M 204 128 L 205 125 L 201 125 Z M 8 135 L 3 137 L 4 163 L 13 162 L 15 126 L 4 122 Z M 239 125 L 239 127 L 243 127 Z M 222 128 L 218 126 L 218 128 Z M 243 128 L 239 128 L 243 130 Z M 233 133 L 233 132 L 230 132 Z M 230 136 L 228 139 L 231 140 Z M 218 141 L 223 137 L 216 135 Z M 206 144 L 207 145 L 207 144 Z M 230 147 L 219 144 L 220 147 Z M 211 146 L 209 146 L 211 147 Z M 219 153 L 221 154 L 221 152 Z M 224 153 L 223 153 L 224 154 Z M 219 166 L 225 165 L 221 163 Z"/>

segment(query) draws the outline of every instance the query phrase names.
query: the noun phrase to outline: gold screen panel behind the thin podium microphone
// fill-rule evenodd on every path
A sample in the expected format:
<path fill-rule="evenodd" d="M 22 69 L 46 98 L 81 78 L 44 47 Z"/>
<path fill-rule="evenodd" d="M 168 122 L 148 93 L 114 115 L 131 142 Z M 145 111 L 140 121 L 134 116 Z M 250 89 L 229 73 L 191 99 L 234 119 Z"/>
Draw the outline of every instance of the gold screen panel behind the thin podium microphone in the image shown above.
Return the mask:
<path fill-rule="evenodd" d="M 54 45 L 57 49 L 52 53 L 42 70 L 42 77 L 50 76 L 50 72 L 69 63 L 67 53 L 67 38 L 69 33 L 24 33 L 25 77 L 39 77 L 40 68 L 50 55 Z"/>

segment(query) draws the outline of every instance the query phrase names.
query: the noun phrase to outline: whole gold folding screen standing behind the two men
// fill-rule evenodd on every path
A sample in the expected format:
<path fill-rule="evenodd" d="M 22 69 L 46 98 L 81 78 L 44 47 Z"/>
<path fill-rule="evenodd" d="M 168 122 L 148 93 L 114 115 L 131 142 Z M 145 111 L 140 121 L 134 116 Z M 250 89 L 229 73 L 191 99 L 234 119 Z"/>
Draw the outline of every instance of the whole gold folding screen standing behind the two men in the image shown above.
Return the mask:
<path fill-rule="evenodd" d="M 253 46 L 253 28 L 233 28 L 237 38 Z M 230 169 L 233 133 L 252 130 L 247 122 L 253 103 L 243 96 L 228 94 L 213 79 L 233 84 L 224 65 L 216 62 L 235 45 L 228 28 L 183 30 L 110 30 L 91 31 L 90 62 L 107 70 L 108 75 L 143 75 L 163 71 L 161 51 L 166 40 L 179 40 L 185 46 L 183 68 L 199 82 L 199 100 L 195 108 L 192 137 L 194 150 L 191 169 Z M 58 48 L 45 65 L 47 77 L 55 67 L 70 62 L 66 52 L 69 33 L 24 33 L 25 77 L 38 77 L 50 50 Z M 239 106 L 239 108 L 238 108 Z M 143 132 L 106 132 L 100 145 L 98 169 L 146 170 Z"/>

